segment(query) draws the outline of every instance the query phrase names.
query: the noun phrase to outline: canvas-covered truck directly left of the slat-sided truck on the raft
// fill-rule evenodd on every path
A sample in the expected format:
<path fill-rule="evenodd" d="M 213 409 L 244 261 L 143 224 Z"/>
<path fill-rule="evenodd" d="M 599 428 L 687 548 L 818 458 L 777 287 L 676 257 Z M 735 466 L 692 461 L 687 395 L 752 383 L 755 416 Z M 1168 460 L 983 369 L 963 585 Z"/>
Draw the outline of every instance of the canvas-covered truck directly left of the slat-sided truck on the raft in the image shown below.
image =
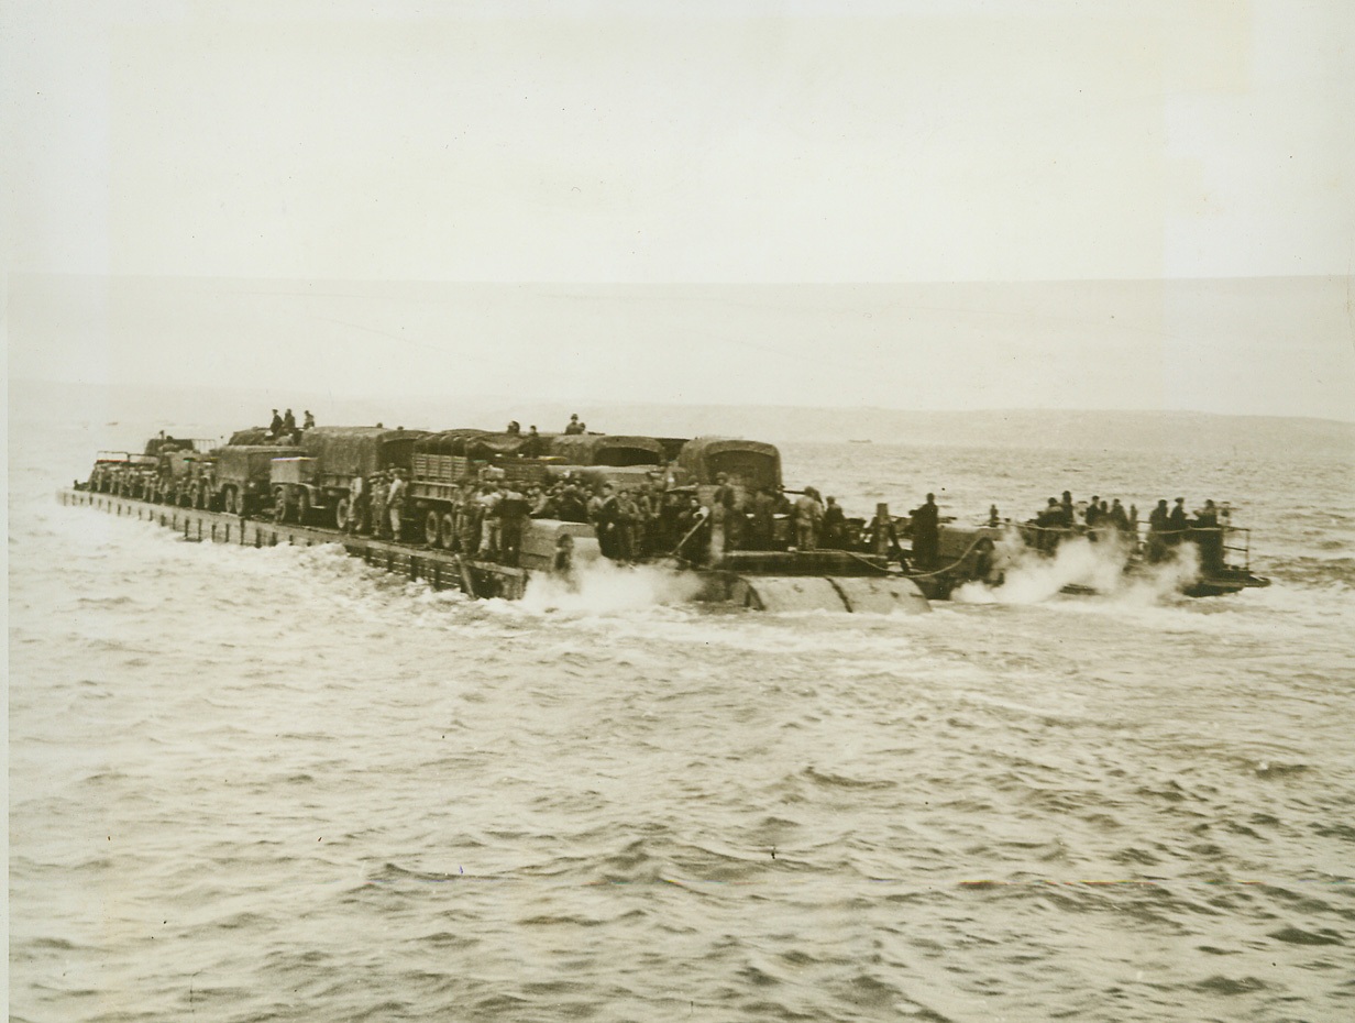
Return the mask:
<path fill-rule="evenodd" d="M 415 442 L 425 430 L 386 427 L 313 427 L 297 451 L 272 448 L 271 486 L 282 522 L 324 523 L 343 528 L 354 477 L 370 480 L 388 469 L 406 473 Z"/>

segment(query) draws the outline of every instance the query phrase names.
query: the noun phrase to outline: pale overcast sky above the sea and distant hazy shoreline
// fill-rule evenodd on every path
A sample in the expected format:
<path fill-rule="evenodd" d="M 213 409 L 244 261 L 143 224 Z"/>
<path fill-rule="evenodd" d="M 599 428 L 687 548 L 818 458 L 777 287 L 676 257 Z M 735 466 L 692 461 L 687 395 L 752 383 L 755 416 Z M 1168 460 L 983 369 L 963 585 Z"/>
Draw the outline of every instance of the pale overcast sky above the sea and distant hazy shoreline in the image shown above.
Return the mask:
<path fill-rule="evenodd" d="M 15 375 L 1355 419 L 1348 0 L 377 7 L 4 5 Z"/>

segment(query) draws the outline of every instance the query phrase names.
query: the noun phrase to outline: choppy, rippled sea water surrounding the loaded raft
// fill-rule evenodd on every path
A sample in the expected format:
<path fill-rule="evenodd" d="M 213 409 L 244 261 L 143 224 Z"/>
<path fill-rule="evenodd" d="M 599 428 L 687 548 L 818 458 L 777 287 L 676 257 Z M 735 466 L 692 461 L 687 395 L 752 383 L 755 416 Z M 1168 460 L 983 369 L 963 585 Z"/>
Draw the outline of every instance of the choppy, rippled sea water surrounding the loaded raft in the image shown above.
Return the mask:
<path fill-rule="evenodd" d="M 1275 584 L 779 617 L 184 543 L 24 431 L 16 1020 L 1355 1018 L 1348 451 L 790 447 L 858 512 L 1229 499 Z"/>

